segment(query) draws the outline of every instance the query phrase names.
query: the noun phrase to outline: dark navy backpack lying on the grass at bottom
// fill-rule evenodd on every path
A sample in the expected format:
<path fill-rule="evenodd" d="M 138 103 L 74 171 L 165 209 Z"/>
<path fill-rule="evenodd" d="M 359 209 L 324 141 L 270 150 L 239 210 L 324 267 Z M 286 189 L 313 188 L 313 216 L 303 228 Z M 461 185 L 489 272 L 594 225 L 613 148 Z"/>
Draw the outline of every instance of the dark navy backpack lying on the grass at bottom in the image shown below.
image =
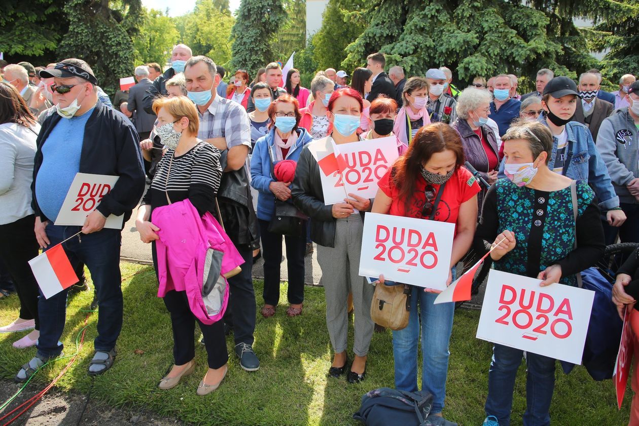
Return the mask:
<path fill-rule="evenodd" d="M 362 396 L 362 406 L 353 418 L 366 426 L 428 426 L 432 406 L 433 395 L 428 392 L 379 388 Z"/>

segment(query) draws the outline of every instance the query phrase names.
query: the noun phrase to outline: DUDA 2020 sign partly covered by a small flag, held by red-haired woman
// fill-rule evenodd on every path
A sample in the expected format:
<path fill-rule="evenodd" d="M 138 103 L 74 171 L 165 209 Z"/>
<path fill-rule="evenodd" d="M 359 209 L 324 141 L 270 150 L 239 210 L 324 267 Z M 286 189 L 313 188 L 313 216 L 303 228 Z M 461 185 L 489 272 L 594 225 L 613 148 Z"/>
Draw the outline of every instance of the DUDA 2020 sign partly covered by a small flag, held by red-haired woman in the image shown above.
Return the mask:
<path fill-rule="evenodd" d="M 319 176 L 324 204 L 330 206 L 344 202 L 346 194 L 374 198 L 377 182 L 397 160 L 397 138 L 394 136 L 366 139 L 336 145 L 332 150 L 314 153 L 319 165 Z"/>

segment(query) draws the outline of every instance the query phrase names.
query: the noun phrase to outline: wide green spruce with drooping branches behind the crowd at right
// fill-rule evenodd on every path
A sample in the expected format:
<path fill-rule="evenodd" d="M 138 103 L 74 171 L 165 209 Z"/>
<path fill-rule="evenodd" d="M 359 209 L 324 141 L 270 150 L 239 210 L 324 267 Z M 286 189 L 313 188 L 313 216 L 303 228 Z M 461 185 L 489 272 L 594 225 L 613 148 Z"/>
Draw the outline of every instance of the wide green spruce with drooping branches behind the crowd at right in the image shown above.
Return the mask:
<path fill-rule="evenodd" d="M 597 3 L 598 2 L 598 3 Z M 346 49 L 343 67 L 367 54 L 387 54 L 388 65 L 407 75 L 446 65 L 459 80 L 499 72 L 534 75 L 539 68 L 575 77 L 596 62 L 573 17 L 601 11 L 608 0 L 374 0 L 369 26 Z M 532 7 L 531 7 L 532 6 Z"/>

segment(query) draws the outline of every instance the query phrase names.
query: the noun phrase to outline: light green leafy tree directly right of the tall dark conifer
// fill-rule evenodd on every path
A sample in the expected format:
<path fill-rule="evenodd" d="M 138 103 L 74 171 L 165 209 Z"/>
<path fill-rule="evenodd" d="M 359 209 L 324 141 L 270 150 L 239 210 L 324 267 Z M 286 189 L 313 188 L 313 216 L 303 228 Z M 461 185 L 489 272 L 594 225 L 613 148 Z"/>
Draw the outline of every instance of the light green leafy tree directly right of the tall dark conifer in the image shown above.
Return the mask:
<path fill-rule="evenodd" d="M 180 33 L 171 18 L 159 10 L 143 10 L 139 36 L 133 40 L 135 64 L 157 62 L 164 65 L 167 54 L 177 43 Z"/>

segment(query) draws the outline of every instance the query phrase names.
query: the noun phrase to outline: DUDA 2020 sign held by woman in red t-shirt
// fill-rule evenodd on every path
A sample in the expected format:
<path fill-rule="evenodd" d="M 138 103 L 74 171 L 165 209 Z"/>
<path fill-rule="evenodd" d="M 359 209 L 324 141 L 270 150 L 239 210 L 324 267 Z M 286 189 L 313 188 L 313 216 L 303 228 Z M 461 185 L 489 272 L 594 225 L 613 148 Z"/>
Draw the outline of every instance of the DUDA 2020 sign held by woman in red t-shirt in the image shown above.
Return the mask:
<path fill-rule="evenodd" d="M 359 274 L 443 290 L 455 225 L 366 213 Z"/>

